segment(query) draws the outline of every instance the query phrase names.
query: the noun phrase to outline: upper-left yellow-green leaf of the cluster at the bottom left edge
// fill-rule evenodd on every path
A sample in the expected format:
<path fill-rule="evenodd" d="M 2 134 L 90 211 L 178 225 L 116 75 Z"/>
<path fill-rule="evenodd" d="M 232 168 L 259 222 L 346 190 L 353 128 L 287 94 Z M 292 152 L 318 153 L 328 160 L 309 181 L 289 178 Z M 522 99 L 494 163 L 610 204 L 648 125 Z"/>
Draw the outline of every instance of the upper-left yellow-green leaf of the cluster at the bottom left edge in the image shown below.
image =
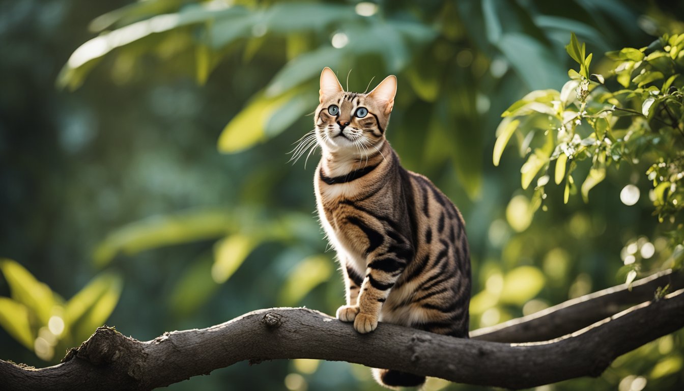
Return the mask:
<path fill-rule="evenodd" d="M 10 286 L 12 299 L 34 312 L 42 325 L 47 325 L 55 304 L 52 290 L 13 260 L 0 259 L 0 270 Z"/>

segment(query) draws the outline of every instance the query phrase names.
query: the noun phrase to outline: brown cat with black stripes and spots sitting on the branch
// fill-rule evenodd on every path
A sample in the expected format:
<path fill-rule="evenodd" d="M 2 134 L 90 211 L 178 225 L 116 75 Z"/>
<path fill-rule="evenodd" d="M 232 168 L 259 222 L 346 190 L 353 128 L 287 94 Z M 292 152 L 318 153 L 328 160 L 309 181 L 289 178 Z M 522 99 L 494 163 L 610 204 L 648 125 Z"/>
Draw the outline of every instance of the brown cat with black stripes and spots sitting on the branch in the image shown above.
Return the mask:
<path fill-rule="evenodd" d="M 330 68 L 321 72 L 314 187 L 345 280 L 347 303 L 337 318 L 353 322 L 359 333 L 382 321 L 468 338 L 464 220 L 428 178 L 399 164 L 386 140 L 396 91 L 394 75 L 365 94 L 345 92 Z M 397 370 L 373 369 L 373 375 L 390 388 L 425 382 Z"/>

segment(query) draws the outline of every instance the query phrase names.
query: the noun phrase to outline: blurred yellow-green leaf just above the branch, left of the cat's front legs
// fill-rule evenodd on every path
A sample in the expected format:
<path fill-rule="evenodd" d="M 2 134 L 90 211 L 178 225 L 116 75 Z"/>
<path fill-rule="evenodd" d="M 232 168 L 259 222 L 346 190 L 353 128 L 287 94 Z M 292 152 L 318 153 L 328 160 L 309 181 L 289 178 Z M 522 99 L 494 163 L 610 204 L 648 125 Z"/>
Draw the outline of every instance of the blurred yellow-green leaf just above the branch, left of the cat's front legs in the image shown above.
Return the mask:
<path fill-rule="evenodd" d="M 282 305 L 293 307 L 320 283 L 330 279 L 333 262 L 326 255 L 313 255 L 297 264 L 287 275 L 278 297 Z"/>

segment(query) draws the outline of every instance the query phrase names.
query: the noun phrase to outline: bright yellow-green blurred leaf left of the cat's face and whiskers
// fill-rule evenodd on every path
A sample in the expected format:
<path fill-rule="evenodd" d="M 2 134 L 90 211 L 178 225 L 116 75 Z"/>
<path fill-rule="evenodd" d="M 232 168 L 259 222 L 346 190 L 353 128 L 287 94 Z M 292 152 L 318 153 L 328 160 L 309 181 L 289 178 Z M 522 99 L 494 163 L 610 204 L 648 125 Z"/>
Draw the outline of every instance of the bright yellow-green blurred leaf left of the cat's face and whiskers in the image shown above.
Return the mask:
<path fill-rule="evenodd" d="M 266 126 L 273 114 L 287 104 L 296 94 L 297 89 L 289 90 L 278 97 L 266 97 L 263 92 L 257 94 L 246 108 L 237 113 L 231 122 L 224 127 L 218 138 L 218 149 L 224 153 L 244 151 L 254 144 L 267 140 Z M 313 101 L 312 108 L 317 100 Z M 293 118 L 288 118 L 293 121 Z M 292 123 L 280 123 L 278 127 L 285 129 Z"/>

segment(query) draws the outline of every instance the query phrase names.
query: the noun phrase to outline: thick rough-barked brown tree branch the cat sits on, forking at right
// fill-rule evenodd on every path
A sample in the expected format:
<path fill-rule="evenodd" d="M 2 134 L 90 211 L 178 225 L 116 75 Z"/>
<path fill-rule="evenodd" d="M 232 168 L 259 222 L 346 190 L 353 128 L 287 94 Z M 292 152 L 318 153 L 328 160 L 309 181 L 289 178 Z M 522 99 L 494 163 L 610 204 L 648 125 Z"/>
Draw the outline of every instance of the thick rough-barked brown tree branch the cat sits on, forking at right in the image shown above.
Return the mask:
<path fill-rule="evenodd" d="M 653 298 L 663 276 L 639 281 L 631 292 L 620 287 L 571 301 L 555 311 L 491 329 L 462 340 L 381 323 L 361 335 L 352 325 L 305 308 L 259 310 L 207 329 L 173 331 L 140 342 L 100 327 L 72 349 L 64 362 L 29 368 L 0 360 L 3 390 L 152 390 L 250 360 L 316 358 L 404 370 L 459 383 L 528 388 L 581 376 L 598 376 L 619 355 L 684 327 L 684 289 L 599 320 L 545 342 L 524 340 L 529 325 L 573 323 L 578 312 L 605 314 L 605 307 Z M 681 283 L 681 275 L 676 276 Z M 668 277 L 670 283 L 674 278 Z M 656 282 L 653 282 L 656 281 Z M 674 284 L 673 284 L 674 285 Z M 642 292 L 642 290 L 644 292 Z M 603 292 L 603 293 L 602 293 Z M 620 293 L 622 292 L 622 293 Z M 627 292 L 627 293 L 624 293 Z M 599 305 L 584 304 L 599 303 Z M 580 307 L 577 307 L 577 306 Z M 575 307 L 575 310 L 573 310 Z M 592 319 L 582 316 L 581 325 Z M 535 326 L 536 327 L 536 326 Z M 578 327 L 581 328 L 582 326 Z M 505 330 L 505 333 L 502 334 Z M 528 340 L 538 340 L 533 334 Z"/>

